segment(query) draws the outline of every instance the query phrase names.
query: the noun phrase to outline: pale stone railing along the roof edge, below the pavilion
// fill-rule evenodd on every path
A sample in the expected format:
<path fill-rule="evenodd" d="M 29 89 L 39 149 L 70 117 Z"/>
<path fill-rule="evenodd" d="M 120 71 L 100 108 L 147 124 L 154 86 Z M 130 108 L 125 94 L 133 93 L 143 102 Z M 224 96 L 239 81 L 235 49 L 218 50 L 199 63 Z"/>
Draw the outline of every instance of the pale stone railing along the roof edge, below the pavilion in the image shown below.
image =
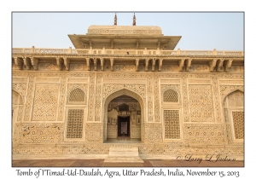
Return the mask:
<path fill-rule="evenodd" d="M 243 56 L 243 51 L 213 50 L 161 50 L 161 49 L 46 49 L 46 48 L 13 48 L 15 54 L 81 54 L 81 55 L 229 55 Z"/>

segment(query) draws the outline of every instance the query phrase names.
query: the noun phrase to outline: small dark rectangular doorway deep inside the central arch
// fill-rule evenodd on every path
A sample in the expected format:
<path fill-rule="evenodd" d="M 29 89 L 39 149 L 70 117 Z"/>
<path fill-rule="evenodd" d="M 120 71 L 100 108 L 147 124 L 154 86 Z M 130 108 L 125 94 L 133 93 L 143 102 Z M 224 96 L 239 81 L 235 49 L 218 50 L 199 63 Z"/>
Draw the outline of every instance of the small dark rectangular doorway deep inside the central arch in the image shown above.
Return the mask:
<path fill-rule="evenodd" d="M 130 116 L 118 118 L 118 136 L 130 136 Z"/>

